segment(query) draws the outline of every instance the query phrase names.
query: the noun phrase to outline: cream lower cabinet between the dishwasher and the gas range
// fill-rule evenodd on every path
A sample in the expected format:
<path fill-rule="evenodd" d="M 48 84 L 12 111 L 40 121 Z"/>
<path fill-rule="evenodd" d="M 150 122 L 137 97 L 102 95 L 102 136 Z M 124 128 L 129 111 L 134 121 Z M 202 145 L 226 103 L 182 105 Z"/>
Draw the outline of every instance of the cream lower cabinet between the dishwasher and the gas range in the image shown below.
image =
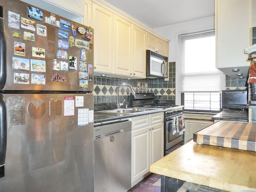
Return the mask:
<path fill-rule="evenodd" d="M 150 165 L 164 156 L 164 113 L 131 118 L 132 186 L 149 174 Z"/>

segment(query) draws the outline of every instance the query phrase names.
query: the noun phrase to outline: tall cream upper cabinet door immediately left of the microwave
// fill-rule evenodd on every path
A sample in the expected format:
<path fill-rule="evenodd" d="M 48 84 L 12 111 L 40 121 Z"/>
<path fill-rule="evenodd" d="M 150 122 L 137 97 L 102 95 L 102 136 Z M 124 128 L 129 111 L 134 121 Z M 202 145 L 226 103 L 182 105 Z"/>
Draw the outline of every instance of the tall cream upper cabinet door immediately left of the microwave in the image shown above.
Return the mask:
<path fill-rule="evenodd" d="M 146 78 L 146 31 L 132 25 L 132 76 Z"/>

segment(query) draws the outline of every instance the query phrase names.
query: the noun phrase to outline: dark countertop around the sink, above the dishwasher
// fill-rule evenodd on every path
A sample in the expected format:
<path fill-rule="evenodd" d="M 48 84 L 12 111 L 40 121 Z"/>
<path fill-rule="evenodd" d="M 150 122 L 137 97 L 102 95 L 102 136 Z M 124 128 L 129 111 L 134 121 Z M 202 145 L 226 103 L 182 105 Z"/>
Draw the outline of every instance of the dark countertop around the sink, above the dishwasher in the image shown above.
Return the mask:
<path fill-rule="evenodd" d="M 120 121 L 125 118 L 132 118 L 136 116 L 142 116 L 147 114 L 153 114 L 158 112 L 164 112 L 164 109 L 161 110 L 151 110 L 143 113 L 136 114 L 118 114 L 118 113 L 107 113 L 102 111 L 94 111 L 94 125 L 101 125 L 109 121 Z"/>

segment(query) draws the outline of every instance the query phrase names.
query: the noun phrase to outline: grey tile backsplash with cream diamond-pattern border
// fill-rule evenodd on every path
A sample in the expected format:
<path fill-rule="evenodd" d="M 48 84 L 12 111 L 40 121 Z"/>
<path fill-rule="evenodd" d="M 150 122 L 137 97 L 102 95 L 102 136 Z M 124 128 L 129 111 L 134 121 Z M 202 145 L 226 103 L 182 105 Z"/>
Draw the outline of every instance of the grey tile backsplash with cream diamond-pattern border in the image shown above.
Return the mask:
<path fill-rule="evenodd" d="M 163 78 L 155 79 L 135 79 L 126 80 L 121 78 L 94 76 L 94 109 L 104 110 L 116 108 L 117 88 L 120 84 L 130 84 L 135 92 L 154 92 L 156 100 L 169 100 L 175 104 L 176 82 L 175 82 L 175 62 L 169 63 L 169 80 Z M 246 79 L 229 78 L 226 76 L 226 89 L 246 89 L 248 87 Z M 130 88 L 120 89 L 120 102 L 130 107 Z"/>

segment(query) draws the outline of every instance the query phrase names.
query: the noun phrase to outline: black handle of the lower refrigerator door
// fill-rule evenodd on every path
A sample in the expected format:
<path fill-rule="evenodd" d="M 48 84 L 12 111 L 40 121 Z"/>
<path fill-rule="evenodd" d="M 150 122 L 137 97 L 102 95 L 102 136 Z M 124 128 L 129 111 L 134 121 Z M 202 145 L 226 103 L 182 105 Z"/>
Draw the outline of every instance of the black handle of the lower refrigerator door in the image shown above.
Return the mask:
<path fill-rule="evenodd" d="M 6 105 L 3 94 L 0 94 L 0 178 L 4 177 L 4 163 L 7 142 Z"/>

